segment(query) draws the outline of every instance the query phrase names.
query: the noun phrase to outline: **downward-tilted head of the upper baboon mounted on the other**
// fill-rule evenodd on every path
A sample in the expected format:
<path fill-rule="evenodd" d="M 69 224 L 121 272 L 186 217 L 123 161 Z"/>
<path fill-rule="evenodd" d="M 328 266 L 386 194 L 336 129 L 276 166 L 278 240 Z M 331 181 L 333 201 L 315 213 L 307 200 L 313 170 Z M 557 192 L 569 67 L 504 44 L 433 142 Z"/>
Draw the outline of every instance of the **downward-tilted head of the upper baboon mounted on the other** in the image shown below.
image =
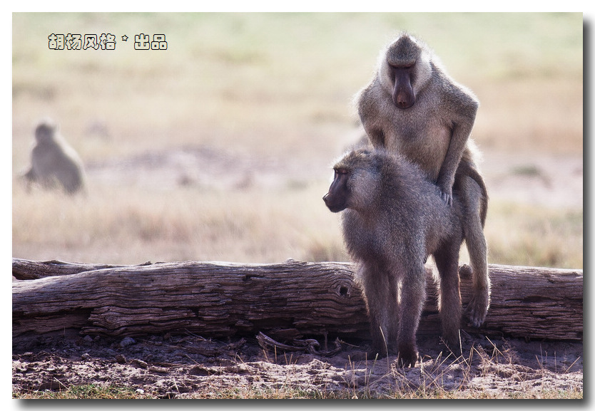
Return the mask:
<path fill-rule="evenodd" d="M 389 86 L 392 88 L 392 103 L 402 110 L 415 104 L 416 88 L 427 61 L 423 58 L 424 48 L 408 35 L 403 35 L 390 45 L 385 56 Z"/>

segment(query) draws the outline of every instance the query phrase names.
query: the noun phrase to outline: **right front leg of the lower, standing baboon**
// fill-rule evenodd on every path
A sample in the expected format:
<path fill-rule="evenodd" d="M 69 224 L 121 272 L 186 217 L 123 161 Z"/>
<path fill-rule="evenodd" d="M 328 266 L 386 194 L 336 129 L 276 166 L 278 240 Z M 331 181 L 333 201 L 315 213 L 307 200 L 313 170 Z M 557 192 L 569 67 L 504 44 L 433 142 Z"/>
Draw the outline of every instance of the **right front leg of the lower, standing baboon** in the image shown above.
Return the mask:
<path fill-rule="evenodd" d="M 401 286 L 398 346 L 399 365 L 404 367 L 413 367 L 417 362 L 415 334 L 424 308 L 425 289 L 425 269 L 420 263 L 419 266 L 408 269 Z"/>

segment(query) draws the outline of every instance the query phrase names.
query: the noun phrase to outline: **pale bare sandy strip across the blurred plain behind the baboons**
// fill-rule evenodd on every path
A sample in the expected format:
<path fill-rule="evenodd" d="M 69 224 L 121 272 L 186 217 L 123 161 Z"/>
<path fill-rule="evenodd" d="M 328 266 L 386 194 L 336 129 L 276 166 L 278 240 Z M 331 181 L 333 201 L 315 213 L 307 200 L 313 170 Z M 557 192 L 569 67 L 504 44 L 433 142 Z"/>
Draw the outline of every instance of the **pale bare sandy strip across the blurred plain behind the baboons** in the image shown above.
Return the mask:
<path fill-rule="evenodd" d="M 345 145 L 347 147 L 347 144 Z M 289 182 L 329 179 L 332 158 L 310 156 L 280 161 L 251 157 L 211 147 L 186 147 L 167 152 L 145 152 L 130 158 L 93 162 L 88 177 L 101 184 L 175 187 L 262 188 Z M 538 155 L 485 152 L 480 165 L 492 199 L 547 207 L 581 208 L 583 158 L 580 155 Z"/>

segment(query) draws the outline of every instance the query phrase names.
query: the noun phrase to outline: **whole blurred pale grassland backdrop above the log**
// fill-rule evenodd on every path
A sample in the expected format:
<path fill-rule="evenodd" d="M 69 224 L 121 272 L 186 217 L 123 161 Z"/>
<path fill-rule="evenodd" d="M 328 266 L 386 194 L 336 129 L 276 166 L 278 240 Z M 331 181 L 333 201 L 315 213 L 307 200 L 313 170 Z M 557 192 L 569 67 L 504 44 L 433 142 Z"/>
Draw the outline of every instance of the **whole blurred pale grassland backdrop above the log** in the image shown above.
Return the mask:
<path fill-rule="evenodd" d="M 322 195 L 362 136 L 352 99 L 402 29 L 481 102 L 489 262 L 582 269 L 584 27 L 566 13 L 15 13 L 12 255 L 347 261 Z M 51 50 L 51 33 L 111 33 L 116 49 Z M 135 50 L 139 33 L 167 50 Z M 19 177 L 44 117 L 86 194 Z"/>

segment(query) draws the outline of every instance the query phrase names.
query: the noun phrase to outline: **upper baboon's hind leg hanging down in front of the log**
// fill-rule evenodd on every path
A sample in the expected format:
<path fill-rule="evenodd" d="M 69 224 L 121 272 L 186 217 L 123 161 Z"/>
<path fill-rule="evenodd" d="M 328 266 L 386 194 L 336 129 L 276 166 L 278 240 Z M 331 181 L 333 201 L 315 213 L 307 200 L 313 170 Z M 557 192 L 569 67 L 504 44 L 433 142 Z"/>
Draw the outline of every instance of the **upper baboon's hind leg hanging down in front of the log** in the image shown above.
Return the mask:
<path fill-rule="evenodd" d="M 475 327 L 484 322 L 489 307 L 489 273 L 487 270 L 487 244 L 480 218 L 479 186 L 469 177 L 463 182 L 464 202 L 467 219 L 464 220 L 465 244 L 469 251 L 469 262 L 473 271 L 473 293 L 467 316 Z"/>

